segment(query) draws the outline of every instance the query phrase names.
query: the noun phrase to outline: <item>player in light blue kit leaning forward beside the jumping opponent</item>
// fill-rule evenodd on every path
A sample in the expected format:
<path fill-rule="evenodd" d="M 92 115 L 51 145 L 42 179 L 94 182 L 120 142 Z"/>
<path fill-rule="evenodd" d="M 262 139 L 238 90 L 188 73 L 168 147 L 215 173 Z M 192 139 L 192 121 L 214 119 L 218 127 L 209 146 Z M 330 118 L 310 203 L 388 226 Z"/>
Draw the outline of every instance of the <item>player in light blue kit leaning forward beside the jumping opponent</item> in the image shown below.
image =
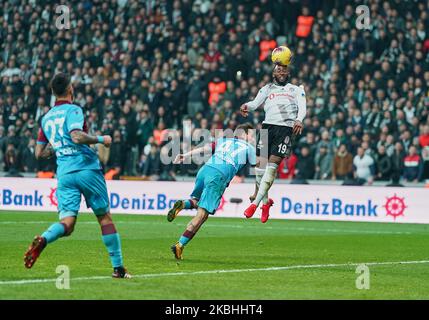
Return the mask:
<path fill-rule="evenodd" d="M 212 146 L 197 148 L 176 157 L 174 162 L 181 163 L 185 158 L 200 154 L 202 151 L 214 152 L 198 171 L 191 199 L 176 201 L 168 212 L 167 219 L 171 222 L 181 210 L 197 208 L 196 216 L 189 222 L 179 241 L 171 247 L 176 259 L 182 259 L 186 244 L 195 236 L 209 215 L 215 213 L 225 189 L 237 172 L 247 163 L 256 165 L 255 147 L 248 142 L 251 139 L 251 129 L 253 127 L 249 123 L 239 125 L 234 138 L 220 138 Z M 207 150 L 210 148 L 211 150 Z"/>

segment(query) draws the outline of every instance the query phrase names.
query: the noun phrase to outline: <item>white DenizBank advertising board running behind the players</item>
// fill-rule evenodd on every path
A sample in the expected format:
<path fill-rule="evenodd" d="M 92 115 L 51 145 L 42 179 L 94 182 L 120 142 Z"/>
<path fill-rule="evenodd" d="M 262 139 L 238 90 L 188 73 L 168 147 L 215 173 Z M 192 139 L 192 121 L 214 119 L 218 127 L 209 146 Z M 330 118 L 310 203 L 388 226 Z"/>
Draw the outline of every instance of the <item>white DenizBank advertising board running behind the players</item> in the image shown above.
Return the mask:
<path fill-rule="evenodd" d="M 108 181 L 107 187 L 112 213 L 159 215 L 175 200 L 187 199 L 193 183 Z M 56 211 L 55 190 L 55 179 L 0 178 L 0 210 Z M 253 190 L 249 183 L 231 184 L 215 216 L 243 217 Z M 270 198 L 274 219 L 429 224 L 429 189 L 424 188 L 274 184 Z M 81 209 L 90 211 L 84 199 Z"/>

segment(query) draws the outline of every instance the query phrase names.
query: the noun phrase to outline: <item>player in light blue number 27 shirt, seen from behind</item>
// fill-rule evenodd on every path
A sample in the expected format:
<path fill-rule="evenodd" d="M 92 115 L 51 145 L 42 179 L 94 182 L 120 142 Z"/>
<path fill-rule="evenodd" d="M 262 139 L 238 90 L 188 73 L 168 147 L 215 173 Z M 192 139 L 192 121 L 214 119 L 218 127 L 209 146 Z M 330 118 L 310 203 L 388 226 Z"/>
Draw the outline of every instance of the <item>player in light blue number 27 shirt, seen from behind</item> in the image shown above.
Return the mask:
<path fill-rule="evenodd" d="M 102 143 L 109 147 L 110 136 L 87 133 L 82 108 L 74 105 L 70 76 L 58 73 L 51 81 L 55 106 L 42 119 L 35 156 L 37 159 L 57 156 L 57 199 L 60 222 L 36 236 L 24 255 L 24 265 L 31 268 L 45 247 L 74 229 L 81 195 L 97 216 L 102 240 L 109 253 L 114 278 L 130 278 L 122 262 L 119 234 L 109 213 L 109 198 L 97 154 L 89 147 Z M 48 137 L 48 138 L 47 138 Z"/>

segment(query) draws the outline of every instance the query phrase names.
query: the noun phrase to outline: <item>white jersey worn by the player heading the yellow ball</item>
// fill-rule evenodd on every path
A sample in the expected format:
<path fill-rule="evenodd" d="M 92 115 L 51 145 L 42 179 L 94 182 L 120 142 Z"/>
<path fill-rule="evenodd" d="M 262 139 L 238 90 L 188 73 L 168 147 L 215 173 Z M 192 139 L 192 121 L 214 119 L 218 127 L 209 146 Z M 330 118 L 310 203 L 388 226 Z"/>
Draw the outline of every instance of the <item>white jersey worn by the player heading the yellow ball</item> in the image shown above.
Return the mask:
<path fill-rule="evenodd" d="M 251 111 L 262 105 L 265 111 L 263 123 L 293 127 L 295 120 L 302 122 L 307 112 L 304 86 L 269 83 L 259 90 L 253 101 L 246 103 Z"/>

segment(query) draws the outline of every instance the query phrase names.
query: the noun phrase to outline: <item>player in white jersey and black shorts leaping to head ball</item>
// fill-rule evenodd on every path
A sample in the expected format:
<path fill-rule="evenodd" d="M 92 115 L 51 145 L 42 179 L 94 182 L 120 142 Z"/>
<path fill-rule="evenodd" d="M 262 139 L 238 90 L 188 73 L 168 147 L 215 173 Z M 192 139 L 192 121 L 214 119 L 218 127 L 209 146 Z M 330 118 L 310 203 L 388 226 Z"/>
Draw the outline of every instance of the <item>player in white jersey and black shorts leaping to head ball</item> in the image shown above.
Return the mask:
<path fill-rule="evenodd" d="M 268 220 L 269 209 L 273 205 L 268 198 L 268 190 L 276 178 L 280 162 L 290 155 L 294 136 L 302 133 L 307 111 L 304 87 L 288 83 L 288 77 L 289 68 L 277 64 L 273 70 L 273 83 L 262 87 L 253 101 L 240 107 L 244 117 L 260 107 L 265 111 L 257 146 L 259 161 L 255 169 L 255 194 L 250 197 L 252 204 L 244 212 L 246 218 L 251 218 L 263 201 L 263 223 Z"/>

